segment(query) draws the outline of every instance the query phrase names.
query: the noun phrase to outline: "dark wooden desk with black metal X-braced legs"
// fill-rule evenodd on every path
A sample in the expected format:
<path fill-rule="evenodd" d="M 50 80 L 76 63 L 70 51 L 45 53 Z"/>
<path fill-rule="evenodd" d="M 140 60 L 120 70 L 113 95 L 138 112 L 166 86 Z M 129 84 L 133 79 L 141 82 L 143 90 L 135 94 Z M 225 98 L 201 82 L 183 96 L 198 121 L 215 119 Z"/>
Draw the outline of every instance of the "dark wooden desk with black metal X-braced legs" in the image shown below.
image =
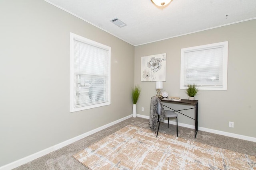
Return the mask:
<path fill-rule="evenodd" d="M 172 111 L 175 111 L 175 112 L 178 112 L 186 117 L 189 117 L 190 119 L 193 119 L 195 121 L 195 138 L 196 138 L 196 135 L 197 135 L 197 131 L 198 131 L 198 100 L 186 100 L 186 99 L 182 99 L 180 100 L 179 102 L 178 101 L 173 101 L 173 100 L 163 100 L 164 98 L 160 98 L 160 100 L 162 102 L 167 102 L 167 103 L 173 103 L 173 104 L 184 104 L 184 105 L 192 105 L 194 106 L 193 108 L 188 108 L 188 109 L 195 109 L 195 118 L 192 118 L 192 117 L 189 117 L 188 115 L 185 115 L 183 113 L 181 113 L 180 111 L 182 110 L 188 110 L 188 109 L 181 109 L 181 110 L 174 110 L 168 106 L 165 106 L 165 107 L 168 107 L 169 109 L 172 109 Z"/>

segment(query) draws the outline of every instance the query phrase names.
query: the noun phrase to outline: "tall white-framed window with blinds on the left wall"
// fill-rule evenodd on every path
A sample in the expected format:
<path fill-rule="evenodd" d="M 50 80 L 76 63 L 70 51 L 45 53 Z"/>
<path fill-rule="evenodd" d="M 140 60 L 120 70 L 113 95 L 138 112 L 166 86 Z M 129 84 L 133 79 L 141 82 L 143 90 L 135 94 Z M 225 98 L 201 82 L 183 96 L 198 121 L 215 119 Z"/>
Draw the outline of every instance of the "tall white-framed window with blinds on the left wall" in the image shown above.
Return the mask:
<path fill-rule="evenodd" d="M 70 112 L 110 105 L 110 50 L 70 33 Z"/>

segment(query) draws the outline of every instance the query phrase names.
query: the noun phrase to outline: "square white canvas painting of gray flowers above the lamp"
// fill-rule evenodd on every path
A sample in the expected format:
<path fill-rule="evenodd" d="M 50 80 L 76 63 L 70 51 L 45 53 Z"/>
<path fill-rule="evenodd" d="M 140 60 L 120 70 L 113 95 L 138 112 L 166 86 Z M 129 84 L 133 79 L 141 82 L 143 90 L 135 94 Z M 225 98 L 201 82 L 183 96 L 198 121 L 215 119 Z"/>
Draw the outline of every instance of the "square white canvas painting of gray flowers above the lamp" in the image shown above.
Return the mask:
<path fill-rule="evenodd" d="M 166 53 L 141 57 L 141 81 L 164 82 L 166 78 Z"/>

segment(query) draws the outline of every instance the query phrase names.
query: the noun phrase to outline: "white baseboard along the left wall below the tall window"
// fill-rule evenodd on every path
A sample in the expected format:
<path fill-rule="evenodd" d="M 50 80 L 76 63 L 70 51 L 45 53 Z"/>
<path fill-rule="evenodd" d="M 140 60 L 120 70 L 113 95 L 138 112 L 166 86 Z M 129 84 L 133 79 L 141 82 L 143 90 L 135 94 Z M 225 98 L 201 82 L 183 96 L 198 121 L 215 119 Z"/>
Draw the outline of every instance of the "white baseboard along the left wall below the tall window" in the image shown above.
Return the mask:
<path fill-rule="evenodd" d="M 106 124 L 106 125 L 103 125 L 103 126 L 101 126 L 101 127 L 98 127 L 98 128 L 96 128 L 96 129 L 93 129 L 93 130 L 91 130 L 91 131 L 89 131 L 89 132 L 86 132 L 86 133 L 84 133 L 84 134 L 82 134 L 82 135 L 79 135 L 79 136 L 74 137 L 74 138 L 72 138 L 72 139 L 68 139 L 67 141 L 64 141 L 64 142 L 59 143 L 59 144 L 57 144 L 57 145 L 54 145 L 54 146 L 52 146 L 52 147 L 46 148 L 46 149 L 44 149 L 44 150 L 41 150 L 41 151 L 39 151 L 39 152 L 36 152 L 36 153 L 34 153 L 34 154 L 31 154 L 31 155 L 29 155 L 29 156 L 26 156 L 26 157 L 24 157 L 24 158 L 21 158 L 21 159 L 19 159 L 19 160 L 16 160 L 16 161 L 14 161 L 14 162 L 11 162 L 11 163 L 9 163 L 9 164 L 6 164 L 6 165 L 4 165 L 4 166 L 1 166 L 1 167 L 0 167 L 0 170 L 11 170 L 11 169 L 16 168 L 16 167 L 18 167 L 18 166 L 21 166 L 21 165 L 23 165 L 23 164 L 26 164 L 26 163 L 28 163 L 28 162 L 34 160 L 34 159 L 37 159 L 37 158 L 39 158 L 39 157 L 41 157 L 41 156 L 44 156 L 44 155 L 46 155 L 46 154 L 48 154 L 48 153 L 50 153 L 50 152 L 53 152 L 54 150 L 60 149 L 60 148 L 62 148 L 62 147 L 65 147 L 65 146 L 67 146 L 67 145 L 69 145 L 69 144 L 71 144 L 71 143 L 74 143 L 74 142 L 76 142 L 76 141 L 78 141 L 78 140 L 80 140 L 80 139 L 83 139 L 84 137 L 87 137 L 87 136 L 92 135 L 92 134 L 94 134 L 94 133 L 96 133 L 96 132 L 98 132 L 98 131 L 101 131 L 101 130 L 103 130 L 103 129 L 106 129 L 107 127 L 110 127 L 110 126 L 112 126 L 112 125 L 115 125 L 116 123 L 119 123 L 119 122 L 121 122 L 121 121 L 124 121 L 124 120 L 126 120 L 126 119 L 129 119 L 130 117 L 132 117 L 132 115 L 128 115 L 128 116 L 126 116 L 126 117 L 123 117 L 122 119 L 118 119 L 118 120 L 116 120 L 116 121 L 113 121 L 113 122 L 111 122 L 111 123 L 108 123 L 108 124 Z"/>

